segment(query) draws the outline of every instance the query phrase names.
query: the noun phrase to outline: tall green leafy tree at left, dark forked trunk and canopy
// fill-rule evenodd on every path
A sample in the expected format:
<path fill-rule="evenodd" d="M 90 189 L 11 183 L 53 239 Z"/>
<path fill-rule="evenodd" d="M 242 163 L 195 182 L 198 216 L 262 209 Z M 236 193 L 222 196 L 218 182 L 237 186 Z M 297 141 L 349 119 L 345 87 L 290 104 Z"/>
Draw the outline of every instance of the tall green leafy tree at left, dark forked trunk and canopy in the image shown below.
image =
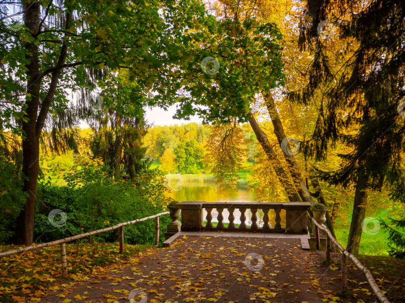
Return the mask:
<path fill-rule="evenodd" d="M 5 15 L 12 5 L 24 16 L 23 24 Z M 183 13 L 175 13 L 180 8 Z M 195 20 L 201 25 L 215 20 L 205 17 L 204 6 L 195 0 L 149 5 L 123 0 L 1 2 L 0 16 L 0 96 L 5 100 L 0 117 L 4 127 L 22 135 L 23 191 L 28 193 L 15 242 L 30 245 L 43 130 L 69 132 L 79 118 L 67 106 L 67 89 L 92 90 L 94 75 L 120 67 L 130 67 L 139 92 L 148 91 L 156 75 L 166 84 L 169 78 L 178 82 L 170 62 L 184 62 L 189 56 L 183 40 L 192 39 L 183 33 L 196 27 Z M 206 37 L 204 32 L 195 35 Z M 91 100 L 93 108 L 100 105 Z M 63 137 L 73 148 L 72 137 Z"/>

